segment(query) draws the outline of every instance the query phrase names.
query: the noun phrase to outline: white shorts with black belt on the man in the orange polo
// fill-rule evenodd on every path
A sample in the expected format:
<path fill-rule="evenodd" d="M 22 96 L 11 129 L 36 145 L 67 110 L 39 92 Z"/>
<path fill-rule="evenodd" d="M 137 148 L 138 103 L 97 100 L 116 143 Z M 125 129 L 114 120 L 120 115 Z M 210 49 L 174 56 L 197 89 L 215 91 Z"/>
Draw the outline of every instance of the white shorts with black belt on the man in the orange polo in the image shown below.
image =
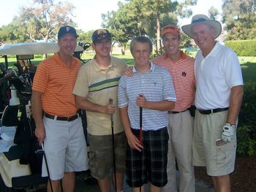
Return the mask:
<path fill-rule="evenodd" d="M 64 172 L 80 172 L 89 169 L 81 118 L 65 121 L 44 117 L 43 122 L 44 147 L 50 180 L 61 180 Z M 42 177 L 47 176 L 45 158 L 43 158 Z"/>

